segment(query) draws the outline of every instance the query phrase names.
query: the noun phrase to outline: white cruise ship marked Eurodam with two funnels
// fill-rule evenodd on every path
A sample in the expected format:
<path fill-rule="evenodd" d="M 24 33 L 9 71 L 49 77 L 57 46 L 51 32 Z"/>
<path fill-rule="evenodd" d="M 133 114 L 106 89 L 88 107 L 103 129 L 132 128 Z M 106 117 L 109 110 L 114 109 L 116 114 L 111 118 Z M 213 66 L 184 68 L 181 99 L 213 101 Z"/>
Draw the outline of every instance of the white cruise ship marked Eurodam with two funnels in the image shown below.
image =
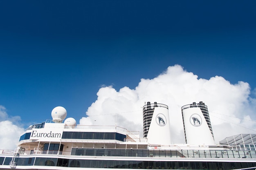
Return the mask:
<path fill-rule="evenodd" d="M 15 150 L 0 150 L 0 169 L 256 169 L 256 135 L 238 134 L 216 144 L 203 102 L 181 108 L 184 144 L 172 144 L 167 105 L 147 102 L 141 114 L 143 137 L 119 126 L 76 125 L 58 106 L 52 120 L 20 135 Z"/>

